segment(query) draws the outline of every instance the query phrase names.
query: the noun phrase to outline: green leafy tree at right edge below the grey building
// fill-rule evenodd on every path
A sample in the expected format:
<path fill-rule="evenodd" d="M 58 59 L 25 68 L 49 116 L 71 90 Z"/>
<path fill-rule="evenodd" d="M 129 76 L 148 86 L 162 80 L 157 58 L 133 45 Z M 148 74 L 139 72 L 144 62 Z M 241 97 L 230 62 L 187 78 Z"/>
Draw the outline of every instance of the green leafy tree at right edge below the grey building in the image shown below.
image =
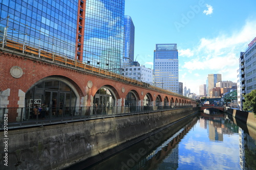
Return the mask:
<path fill-rule="evenodd" d="M 251 90 L 250 93 L 244 96 L 243 110 L 252 111 L 256 114 L 256 90 Z"/>

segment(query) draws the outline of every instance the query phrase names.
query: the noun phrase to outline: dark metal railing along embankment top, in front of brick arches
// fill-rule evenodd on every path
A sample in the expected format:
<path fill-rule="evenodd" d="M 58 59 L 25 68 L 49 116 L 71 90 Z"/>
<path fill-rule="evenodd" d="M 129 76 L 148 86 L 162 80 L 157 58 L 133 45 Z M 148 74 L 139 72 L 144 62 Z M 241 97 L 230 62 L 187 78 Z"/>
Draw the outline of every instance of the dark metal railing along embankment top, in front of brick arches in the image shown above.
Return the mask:
<path fill-rule="evenodd" d="M 45 126 L 105 117 L 167 111 L 193 106 L 107 106 L 68 108 L 0 108 L 0 130 Z"/>

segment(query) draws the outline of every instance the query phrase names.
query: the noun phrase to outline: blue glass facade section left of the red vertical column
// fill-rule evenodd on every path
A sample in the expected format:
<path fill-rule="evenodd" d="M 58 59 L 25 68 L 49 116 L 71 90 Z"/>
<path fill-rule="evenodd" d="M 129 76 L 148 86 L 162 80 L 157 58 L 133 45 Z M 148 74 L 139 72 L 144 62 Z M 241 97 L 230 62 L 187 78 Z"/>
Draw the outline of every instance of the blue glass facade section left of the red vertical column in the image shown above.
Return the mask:
<path fill-rule="evenodd" d="M 75 56 L 77 1 L 0 1 L 1 26 L 18 42 Z"/>

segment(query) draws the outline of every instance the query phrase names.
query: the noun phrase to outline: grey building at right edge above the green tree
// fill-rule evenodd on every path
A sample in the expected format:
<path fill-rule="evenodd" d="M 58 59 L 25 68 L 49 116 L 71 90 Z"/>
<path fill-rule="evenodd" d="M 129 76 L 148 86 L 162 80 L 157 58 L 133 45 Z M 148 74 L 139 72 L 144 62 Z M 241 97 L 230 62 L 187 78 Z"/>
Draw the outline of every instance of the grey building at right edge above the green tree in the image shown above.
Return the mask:
<path fill-rule="evenodd" d="M 256 37 L 240 53 L 238 73 L 238 105 L 243 110 L 244 95 L 256 89 Z"/>

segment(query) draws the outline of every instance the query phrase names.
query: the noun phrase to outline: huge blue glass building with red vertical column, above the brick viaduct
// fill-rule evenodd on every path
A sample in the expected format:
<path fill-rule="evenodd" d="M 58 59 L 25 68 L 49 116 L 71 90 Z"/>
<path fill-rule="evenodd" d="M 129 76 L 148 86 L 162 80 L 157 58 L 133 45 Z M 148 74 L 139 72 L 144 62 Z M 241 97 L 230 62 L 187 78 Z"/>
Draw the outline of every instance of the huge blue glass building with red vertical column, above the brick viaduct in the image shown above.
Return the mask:
<path fill-rule="evenodd" d="M 12 0 L 0 7 L 9 40 L 120 72 L 124 0 Z"/>

